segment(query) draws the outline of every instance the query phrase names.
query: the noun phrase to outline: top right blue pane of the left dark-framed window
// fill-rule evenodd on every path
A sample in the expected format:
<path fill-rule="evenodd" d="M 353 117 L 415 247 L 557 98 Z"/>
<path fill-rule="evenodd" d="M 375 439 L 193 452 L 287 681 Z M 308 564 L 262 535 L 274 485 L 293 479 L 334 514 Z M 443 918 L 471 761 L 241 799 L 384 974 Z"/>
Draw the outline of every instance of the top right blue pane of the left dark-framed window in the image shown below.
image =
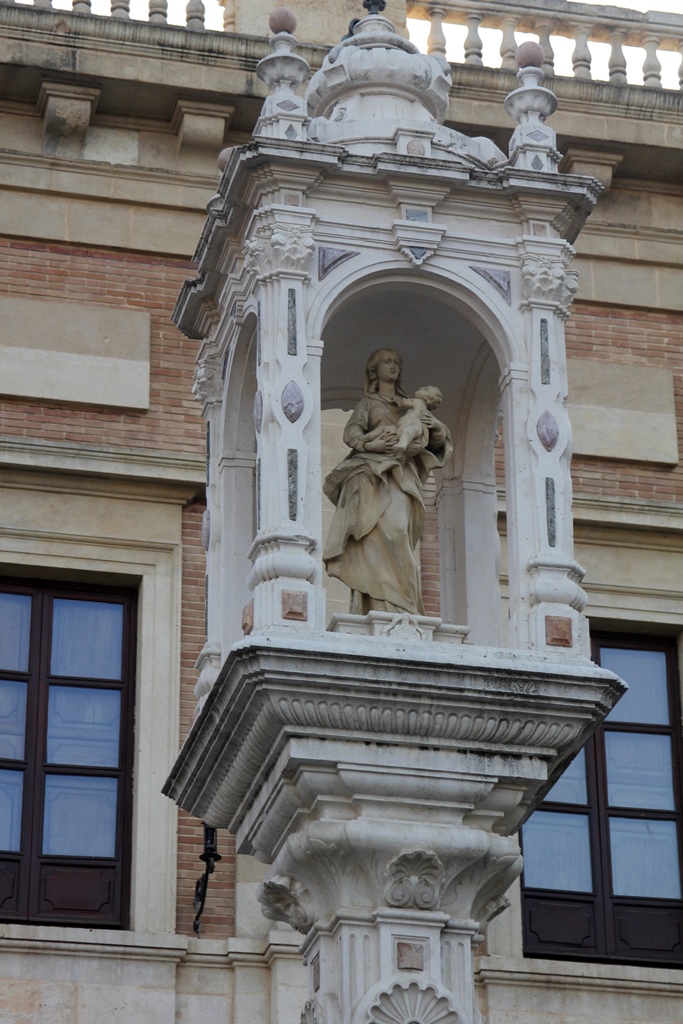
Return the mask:
<path fill-rule="evenodd" d="M 123 605 L 103 601 L 54 601 L 53 676 L 121 679 Z"/>

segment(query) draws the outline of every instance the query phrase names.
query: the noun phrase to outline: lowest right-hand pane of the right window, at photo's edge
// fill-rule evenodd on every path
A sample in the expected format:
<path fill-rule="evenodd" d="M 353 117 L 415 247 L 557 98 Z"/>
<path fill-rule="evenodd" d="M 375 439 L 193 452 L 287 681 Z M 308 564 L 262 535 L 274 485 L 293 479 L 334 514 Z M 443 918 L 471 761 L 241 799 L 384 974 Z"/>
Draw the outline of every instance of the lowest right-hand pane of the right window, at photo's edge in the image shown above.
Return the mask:
<path fill-rule="evenodd" d="M 681 898 L 675 821 L 611 818 L 609 837 L 615 896 Z"/>

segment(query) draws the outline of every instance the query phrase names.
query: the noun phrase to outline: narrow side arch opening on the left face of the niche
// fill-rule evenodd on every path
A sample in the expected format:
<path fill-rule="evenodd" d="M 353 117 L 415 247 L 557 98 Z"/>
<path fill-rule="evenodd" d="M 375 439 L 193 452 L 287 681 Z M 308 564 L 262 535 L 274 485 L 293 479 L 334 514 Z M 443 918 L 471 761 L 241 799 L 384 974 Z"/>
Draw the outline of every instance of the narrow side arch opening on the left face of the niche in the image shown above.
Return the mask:
<path fill-rule="evenodd" d="M 254 431 L 257 318 L 245 316 L 225 356 L 225 384 L 217 459 L 217 506 L 223 510 L 211 529 L 210 558 L 220 562 L 220 594 L 209 594 L 209 620 L 220 633 L 223 651 L 243 636 L 243 611 L 251 600 L 248 552 L 257 529 L 257 460 Z M 210 487 L 214 482 L 210 481 Z M 215 609 L 212 601 L 215 599 Z"/>

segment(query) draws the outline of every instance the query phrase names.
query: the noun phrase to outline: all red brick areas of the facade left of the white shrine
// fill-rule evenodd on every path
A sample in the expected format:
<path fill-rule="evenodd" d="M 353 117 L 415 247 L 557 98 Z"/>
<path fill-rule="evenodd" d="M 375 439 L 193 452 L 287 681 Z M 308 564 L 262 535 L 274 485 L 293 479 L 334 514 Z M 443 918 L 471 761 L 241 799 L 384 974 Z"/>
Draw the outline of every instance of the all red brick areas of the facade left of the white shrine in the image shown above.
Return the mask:
<path fill-rule="evenodd" d="M 6 398 L 0 400 L 0 433 L 84 447 L 94 444 L 204 456 L 204 421 L 190 390 L 198 343 L 180 334 L 170 318 L 180 287 L 191 273 L 193 265 L 184 260 L 0 239 L 0 293 L 144 310 L 150 313 L 152 332 L 148 411 Z M 205 639 L 203 511 L 204 505 L 196 503 L 183 512 L 181 738 L 193 720 L 195 663 Z M 181 811 L 177 928 L 183 934 L 193 930 L 195 883 L 204 869 L 199 859 L 203 844 L 202 824 Z M 219 851 L 222 860 L 212 877 L 202 918 L 202 934 L 212 937 L 233 931 L 233 843 L 224 831 Z"/>

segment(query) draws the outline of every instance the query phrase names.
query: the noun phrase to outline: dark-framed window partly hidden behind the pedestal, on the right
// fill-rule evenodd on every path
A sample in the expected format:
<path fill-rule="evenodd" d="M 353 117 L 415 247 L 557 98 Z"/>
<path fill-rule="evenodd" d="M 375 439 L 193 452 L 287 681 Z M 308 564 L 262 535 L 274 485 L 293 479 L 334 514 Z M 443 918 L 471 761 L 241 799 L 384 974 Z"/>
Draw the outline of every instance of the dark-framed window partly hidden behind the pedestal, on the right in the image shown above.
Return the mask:
<path fill-rule="evenodd" d="M 629 684 L 522 829 L 524 953 L 683 963 L 676 644 L 596 636 Z"/>

